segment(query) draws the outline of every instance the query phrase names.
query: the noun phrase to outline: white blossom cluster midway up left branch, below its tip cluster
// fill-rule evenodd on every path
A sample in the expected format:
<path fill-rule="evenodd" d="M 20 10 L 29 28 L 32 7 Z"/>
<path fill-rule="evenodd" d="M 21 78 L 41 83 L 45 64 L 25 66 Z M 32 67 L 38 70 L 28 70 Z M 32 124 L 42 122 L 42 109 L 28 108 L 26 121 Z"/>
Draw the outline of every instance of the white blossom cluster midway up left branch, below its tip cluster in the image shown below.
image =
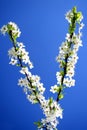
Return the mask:
<path fill-rule="evenodd" d="M 20 65 L 20 60 L 23 64 L 27 64 L 30 69 L 33 68 L 33 64 L 30 61 L 30 57 L 28 52 L 25 50 L 25 46 L 21 42 L 16 43 L 16 48 L 12 47 L 8 51 L 8 55 L 11 58 L 10 64 L 12 65 Z"/>

